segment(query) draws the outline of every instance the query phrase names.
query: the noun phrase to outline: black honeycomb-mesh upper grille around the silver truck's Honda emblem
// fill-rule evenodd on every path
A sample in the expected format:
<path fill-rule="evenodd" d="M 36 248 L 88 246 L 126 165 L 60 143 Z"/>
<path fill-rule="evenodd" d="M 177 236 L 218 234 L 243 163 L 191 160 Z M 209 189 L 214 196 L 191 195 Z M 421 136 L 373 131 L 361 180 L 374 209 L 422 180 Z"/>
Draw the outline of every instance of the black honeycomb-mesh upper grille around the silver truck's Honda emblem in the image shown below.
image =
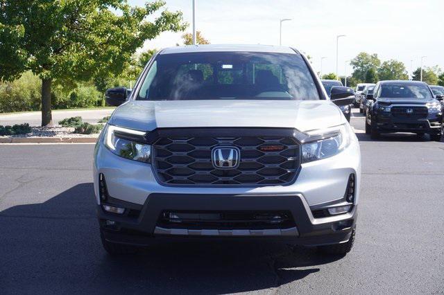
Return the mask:
<path fill-rule="evenodd" d="M 216 169 L 214 147 L 237 147 L 239 166 Z M 153 167 L 168 185 L 287 185 L 300 166 L 300 145 L 292 137 L 160 137 L 153 145 Z"/>

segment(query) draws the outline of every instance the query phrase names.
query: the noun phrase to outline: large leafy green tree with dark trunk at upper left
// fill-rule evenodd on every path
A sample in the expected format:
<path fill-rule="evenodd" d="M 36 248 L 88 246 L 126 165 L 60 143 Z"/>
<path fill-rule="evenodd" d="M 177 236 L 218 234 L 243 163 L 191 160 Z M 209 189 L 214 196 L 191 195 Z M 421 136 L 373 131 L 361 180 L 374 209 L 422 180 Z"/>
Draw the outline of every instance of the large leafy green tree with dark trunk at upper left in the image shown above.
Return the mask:
<path fill-rule="evenodd" d="M 32 71 L 42 80 L 42 125 L 52 123 L 51 86 L 119 75 L 147 39 L 185 30 L 161 0 L 1 0 L 0 80 Z M 151 15 L 156 14 L 153 18 Z M 148 17 L 153 21 L 148 21 Z"/>

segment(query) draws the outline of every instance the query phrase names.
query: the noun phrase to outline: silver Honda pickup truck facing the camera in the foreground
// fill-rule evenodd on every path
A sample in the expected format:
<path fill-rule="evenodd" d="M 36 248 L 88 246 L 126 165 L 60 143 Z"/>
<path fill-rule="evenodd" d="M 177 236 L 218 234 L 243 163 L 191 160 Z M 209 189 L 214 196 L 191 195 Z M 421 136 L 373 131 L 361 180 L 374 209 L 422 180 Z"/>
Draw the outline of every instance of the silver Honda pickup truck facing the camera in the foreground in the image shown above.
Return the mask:
<path fill-rule="evenodd" d="M 166 238 L 280 240 L 345 254 L 360 151 L 307 59 L 275 46 L 166 48 L 115 109 L 94 152 L 103 247 Z M 336 104 L 336 105 L 335 105 Z"/>

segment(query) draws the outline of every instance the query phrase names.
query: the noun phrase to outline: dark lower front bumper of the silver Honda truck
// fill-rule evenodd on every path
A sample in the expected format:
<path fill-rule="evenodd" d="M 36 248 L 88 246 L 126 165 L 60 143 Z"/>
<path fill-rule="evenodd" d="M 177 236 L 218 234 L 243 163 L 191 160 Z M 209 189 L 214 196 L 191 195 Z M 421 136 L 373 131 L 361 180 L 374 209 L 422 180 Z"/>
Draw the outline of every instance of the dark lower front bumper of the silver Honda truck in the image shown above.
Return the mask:
<path fill-rule="evenodd" d="M 137 208 L 136 204 L 122 204 Z M 112 204 L 112 201 L 111 201 Z M 282 211 L 289 210 L 295 226 L 284 229 L 184 229 L 181 224 L 160 226 L 162 211 Z M 357 206 L 348 213 L 314 218 L 301 195 L 182 195 L 152 194 L 139 206 L 139 215 L 117 215 L 97 206 L 99 223 L 110 242 L 147 246 L 165 238 L 257 238 L 284 240 L 292 244 L 317 246 L 337 244 L 350 238 L 357 220 Z M 112 225 L 110 224 L 112 222 Z"/>

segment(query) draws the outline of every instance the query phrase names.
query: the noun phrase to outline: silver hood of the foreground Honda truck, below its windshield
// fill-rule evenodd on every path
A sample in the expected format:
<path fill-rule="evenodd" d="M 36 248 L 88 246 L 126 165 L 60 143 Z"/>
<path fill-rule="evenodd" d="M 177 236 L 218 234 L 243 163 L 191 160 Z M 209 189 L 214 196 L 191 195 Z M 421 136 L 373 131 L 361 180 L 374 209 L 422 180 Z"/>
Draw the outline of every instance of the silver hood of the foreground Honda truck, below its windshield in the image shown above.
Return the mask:
<path fill-rule="evenodd" d="M 110 124 L 151 131 L 165 127 L 292 127 L 300 131 L 345 122 L 329 100 L 130 100 Z"/>

